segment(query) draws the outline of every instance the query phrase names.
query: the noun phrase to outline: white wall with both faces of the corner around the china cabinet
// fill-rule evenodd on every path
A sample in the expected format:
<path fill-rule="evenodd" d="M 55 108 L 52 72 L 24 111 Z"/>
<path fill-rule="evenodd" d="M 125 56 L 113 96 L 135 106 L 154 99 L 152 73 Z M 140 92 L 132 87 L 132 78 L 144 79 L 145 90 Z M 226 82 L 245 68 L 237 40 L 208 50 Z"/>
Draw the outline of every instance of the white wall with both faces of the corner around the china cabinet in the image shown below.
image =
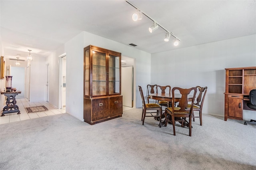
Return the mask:
<path fill-rule="evenodd" d="M 150 83 L 150 53 L 138 50 L 112 40 L 82 32 L 72 40 L 65 43 L 67 56 L 66 65 L 66 112 L 81 121 L 83 119 L 83 63 L 84 47 L 95 45 L 98 47 L 118 51 L 126 57 L 135 58 L 134 80 L 136 87 L 141 85 L 146 91 L 146 85 Z M 138 88 L 136 89 L 136 107 L 141 107 L 141 98 Z"/>

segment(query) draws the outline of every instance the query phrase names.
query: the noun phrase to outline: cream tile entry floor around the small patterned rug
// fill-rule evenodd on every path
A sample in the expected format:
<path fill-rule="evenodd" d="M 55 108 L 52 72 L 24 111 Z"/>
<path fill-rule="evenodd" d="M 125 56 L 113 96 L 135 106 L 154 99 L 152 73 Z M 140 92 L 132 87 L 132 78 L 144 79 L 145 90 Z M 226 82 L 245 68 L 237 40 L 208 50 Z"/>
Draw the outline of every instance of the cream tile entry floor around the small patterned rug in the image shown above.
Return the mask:
<path fill-rule="evenodd" d="M 50 105 L 46 101 L 29 102 L 28 99 L 25 99 L 25 98 L 16 99 L 16 101 L 17 101 L 16 105 L 18 105 L 18 107 L 19 107 L 20 114 L 19 115 L 17 113 L 5 114 L 5 116 L 0 117 L 0 124 L 66 113 L 65 107 L 64 107 L 64 109 L 57 109 L 56 107 Z M 27 113 L 26 112 L 25 107 L 34 107 L 34 106 L 42 106 L 42 105 L 47 107 L 48 111 L 35 112 L 35 113 Z M 1 114 L 2 114 L 2 109 L 1 109 Z"/>

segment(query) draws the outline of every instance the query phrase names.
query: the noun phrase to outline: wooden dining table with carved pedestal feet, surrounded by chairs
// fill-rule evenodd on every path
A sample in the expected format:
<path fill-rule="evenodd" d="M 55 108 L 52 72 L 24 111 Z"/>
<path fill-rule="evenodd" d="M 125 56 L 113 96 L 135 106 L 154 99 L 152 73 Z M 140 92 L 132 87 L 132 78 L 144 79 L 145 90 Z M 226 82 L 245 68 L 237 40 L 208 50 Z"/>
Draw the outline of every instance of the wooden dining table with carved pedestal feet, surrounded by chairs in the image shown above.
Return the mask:
<path fill-rule="evenodd" d="M 175 97 L 174 98 L 174 102 L 176 103 L 176 102 L 180 101 L 182 95 L 180 93 L 175 93 L 174 97 Z M 169 102 L 172 102 L 172 93 L 152 93 L 152 94 L 150 94 L 150 99 L 155 99 L 155 100 L 158 100 L 158 101 L 167 101 L 168 102 L 168 106 L 170 106 Z M 188 95 L 188 102 L 192 101 L 192 100 L 193 100 L 193 95 Z M 181 118 L 180 118 L 180 120 L 181 120 Z M 159 127 L 164 126 L 165 125 L 165 121 L 166 120 L 164 120 L 164 122 L 160 121 L 158 126 Z M 180 122 L 180 124 L 181 124 L 181 122 Z M 185 126 L 188 127 L 188 125 L 186 123 L 185 123 Z"/>

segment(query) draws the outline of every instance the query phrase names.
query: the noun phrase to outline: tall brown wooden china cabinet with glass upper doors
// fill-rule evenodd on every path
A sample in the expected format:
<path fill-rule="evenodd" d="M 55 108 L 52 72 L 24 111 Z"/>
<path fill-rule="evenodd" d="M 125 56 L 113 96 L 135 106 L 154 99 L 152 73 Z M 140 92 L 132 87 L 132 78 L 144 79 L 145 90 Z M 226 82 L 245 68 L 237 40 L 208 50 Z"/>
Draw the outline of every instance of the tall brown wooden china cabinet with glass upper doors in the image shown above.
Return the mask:
<path fill-rule="evenodd" d="M 94 125 L 122 112 L 121 53 L 84 47 L 84 121 Z"/>

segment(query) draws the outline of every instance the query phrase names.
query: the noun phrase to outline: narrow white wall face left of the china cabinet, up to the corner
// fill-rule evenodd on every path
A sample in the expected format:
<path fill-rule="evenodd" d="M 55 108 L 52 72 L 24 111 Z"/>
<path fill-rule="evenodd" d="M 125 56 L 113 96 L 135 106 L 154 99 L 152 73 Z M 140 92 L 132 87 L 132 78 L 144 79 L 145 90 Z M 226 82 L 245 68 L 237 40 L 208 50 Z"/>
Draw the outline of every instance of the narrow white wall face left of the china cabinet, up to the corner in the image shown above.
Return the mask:
<path fill-rule="evenodd" d="M 65 44 L 66 112 L 84 121 L 84 33 Z"/>

